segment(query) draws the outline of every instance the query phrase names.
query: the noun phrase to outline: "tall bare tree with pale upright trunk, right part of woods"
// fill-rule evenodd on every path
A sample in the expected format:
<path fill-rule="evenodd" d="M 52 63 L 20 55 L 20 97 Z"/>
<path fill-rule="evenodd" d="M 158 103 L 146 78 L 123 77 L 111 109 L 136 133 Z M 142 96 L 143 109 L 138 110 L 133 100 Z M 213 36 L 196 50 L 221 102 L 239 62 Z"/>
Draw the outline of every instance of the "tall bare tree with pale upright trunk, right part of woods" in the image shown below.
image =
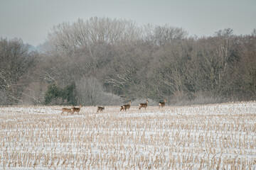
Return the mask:
<path fill-rule="evenodd" d="M 218 36 L 210 38 L 210 43 L 202 46 L 202 57 L 199 60 L 201 72 L 206 79 L 208 91 L 213 96 L 218 96 L 225 91 L 226 77 L 228 76 L 229 61 L 232 56 L 233 40 L 227 37 Z M 202 77 L 202 78 L 203 78 Z"/>

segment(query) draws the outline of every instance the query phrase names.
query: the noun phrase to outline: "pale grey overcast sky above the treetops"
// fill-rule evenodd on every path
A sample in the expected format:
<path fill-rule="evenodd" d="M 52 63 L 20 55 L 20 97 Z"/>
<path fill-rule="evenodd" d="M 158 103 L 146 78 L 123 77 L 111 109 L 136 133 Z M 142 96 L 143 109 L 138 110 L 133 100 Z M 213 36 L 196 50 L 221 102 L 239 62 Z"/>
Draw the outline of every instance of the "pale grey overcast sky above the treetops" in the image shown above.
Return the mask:
<path fill-rule="evenodd" d="M 225 28 L 248 35 L 256 28 L 256 0 L 0 0 L 0 37 L 36 46 L 58 23 L 94 16 L 168 24 L 198 37 Z"/>

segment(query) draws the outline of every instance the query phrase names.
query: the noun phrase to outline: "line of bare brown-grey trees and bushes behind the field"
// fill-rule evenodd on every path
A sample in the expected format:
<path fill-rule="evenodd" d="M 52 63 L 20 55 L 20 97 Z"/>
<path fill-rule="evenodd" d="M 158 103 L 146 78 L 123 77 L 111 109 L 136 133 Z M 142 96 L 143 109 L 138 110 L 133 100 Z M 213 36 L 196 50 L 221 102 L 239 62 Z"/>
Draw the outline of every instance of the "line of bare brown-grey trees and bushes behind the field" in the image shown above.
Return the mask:
<path fill-rule="evenodd" d="M 78 19 L 53 26 L 43 52 L 0 39 L 0 104 L 117 105 L 249 101 L 256 96 L 256 30 L 189 37 L 171 26 Z"/>

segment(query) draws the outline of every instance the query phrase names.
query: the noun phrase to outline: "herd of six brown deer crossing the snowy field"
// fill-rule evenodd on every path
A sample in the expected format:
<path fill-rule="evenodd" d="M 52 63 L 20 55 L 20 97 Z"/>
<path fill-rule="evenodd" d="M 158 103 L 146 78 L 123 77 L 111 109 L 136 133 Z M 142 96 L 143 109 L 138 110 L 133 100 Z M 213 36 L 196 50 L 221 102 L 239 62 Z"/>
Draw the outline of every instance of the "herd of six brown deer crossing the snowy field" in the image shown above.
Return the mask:
<path fill-rule="evenodd" d="M 159 108 L 164 108 L 165 106 L 165 103 L 166 103 L 166 99 L 164 99 L 164 102 L 159 102 Z M 149 101 L 146 100 L 146 103 L 139 103 L 139 109 L 141 108 L 145 108 L 146 110 L 146 107 L 148 105 Z M 126 110 L 129 110 L 129 108 L 131 107 L 131 104 L 132 104 L 132 101 L 129 101 L 129 104 L 126 104 L 126 105 L 123 105 L 120 107 L 120 111 L 126 111 Z M 79 108 L 75 108 L 75 106 L 71 106 L 71 108 L 62 108 L 62 113 L 71 113 L 71 115 L 73 115 L 75 112 L 79 113 L 79 111 L 81 110 L 82 106 L 80 105 Z M 104 106 L 97 106 L 97 112 L 99 111 L 103 111 L 105 109 Z"/>

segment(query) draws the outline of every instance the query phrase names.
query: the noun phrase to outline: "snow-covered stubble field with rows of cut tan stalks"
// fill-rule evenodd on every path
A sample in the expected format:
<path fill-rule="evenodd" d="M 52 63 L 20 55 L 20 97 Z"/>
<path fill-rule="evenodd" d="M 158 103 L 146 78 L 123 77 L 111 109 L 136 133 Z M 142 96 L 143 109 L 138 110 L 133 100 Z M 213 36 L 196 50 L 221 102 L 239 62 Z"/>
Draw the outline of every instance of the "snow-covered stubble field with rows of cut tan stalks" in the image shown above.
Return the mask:
<path fill-rule="evenodd" d="M 0 107 L 0 169 L 256 169 L 255 101 L 61 108 Z"/>

